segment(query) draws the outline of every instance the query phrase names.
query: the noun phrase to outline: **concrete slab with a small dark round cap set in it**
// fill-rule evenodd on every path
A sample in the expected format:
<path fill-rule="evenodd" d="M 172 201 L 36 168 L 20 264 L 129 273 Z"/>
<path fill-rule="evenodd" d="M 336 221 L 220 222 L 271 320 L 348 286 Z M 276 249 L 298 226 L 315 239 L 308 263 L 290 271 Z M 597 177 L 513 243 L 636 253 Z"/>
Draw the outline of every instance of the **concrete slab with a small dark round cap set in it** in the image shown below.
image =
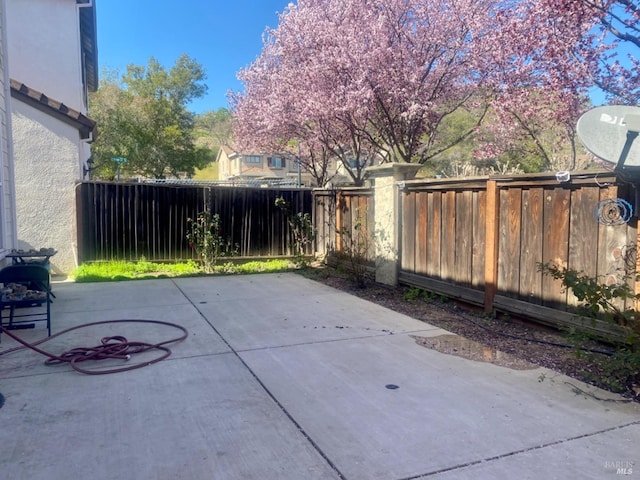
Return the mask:
<path fill-rule="evenodd" d="M 346 478 L 411 478 L 638 421 L 636 405 L 577 396 L 546 369 L 443 355 L 406 335 L 241 357 Z M 575 454 L 592 471 L 596 459 Z M 582 469 L 573 473 L 582 478 Z"/>

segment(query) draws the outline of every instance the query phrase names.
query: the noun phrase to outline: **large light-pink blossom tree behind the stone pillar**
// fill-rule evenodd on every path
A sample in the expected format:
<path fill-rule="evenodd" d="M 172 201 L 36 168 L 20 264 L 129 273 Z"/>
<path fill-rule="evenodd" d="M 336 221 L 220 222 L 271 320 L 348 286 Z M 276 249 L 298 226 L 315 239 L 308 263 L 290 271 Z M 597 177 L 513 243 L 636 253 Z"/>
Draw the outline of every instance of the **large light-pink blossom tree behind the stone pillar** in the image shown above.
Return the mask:
<path fill-rule="evenodd" d="M 375 156 L 426 162 L 447 147 L 437 141 L 445 117 L 472 99 L 486 106 L 478 67 L 494 3 L 290 5 L 268 32 L 261 56 L 240 73 L 245 92 L 232 98 L 237 138 L 264 145 L 303 129 L 340 158 L 356 182 Z"/>

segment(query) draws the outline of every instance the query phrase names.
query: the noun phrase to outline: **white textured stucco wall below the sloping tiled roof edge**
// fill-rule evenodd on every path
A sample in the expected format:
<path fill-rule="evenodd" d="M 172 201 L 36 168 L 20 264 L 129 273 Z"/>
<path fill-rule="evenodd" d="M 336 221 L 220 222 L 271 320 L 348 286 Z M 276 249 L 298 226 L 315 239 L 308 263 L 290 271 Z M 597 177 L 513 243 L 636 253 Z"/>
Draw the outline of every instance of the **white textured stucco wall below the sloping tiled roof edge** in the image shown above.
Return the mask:
<path fill-rule="evenodd" d="M 78 130 L 12 102 L 18 248 L 53 247 L 52 274 L 76 266 Z"/>

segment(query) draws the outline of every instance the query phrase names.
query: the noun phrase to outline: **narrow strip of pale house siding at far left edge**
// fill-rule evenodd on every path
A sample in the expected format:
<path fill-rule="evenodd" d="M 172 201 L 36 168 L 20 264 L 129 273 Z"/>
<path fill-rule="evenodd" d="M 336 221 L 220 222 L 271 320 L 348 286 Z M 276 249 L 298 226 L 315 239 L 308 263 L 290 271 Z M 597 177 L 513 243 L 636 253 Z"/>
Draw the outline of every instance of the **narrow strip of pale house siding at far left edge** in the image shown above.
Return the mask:
<path fill-rule="evenodd" d="M 6 62 L 6 7 L 0 0 L 0 263 L 8 262 L 4 255 L 17 245 L 15 189 L 11 141 L 11 103 L 9 72 Z"/>

